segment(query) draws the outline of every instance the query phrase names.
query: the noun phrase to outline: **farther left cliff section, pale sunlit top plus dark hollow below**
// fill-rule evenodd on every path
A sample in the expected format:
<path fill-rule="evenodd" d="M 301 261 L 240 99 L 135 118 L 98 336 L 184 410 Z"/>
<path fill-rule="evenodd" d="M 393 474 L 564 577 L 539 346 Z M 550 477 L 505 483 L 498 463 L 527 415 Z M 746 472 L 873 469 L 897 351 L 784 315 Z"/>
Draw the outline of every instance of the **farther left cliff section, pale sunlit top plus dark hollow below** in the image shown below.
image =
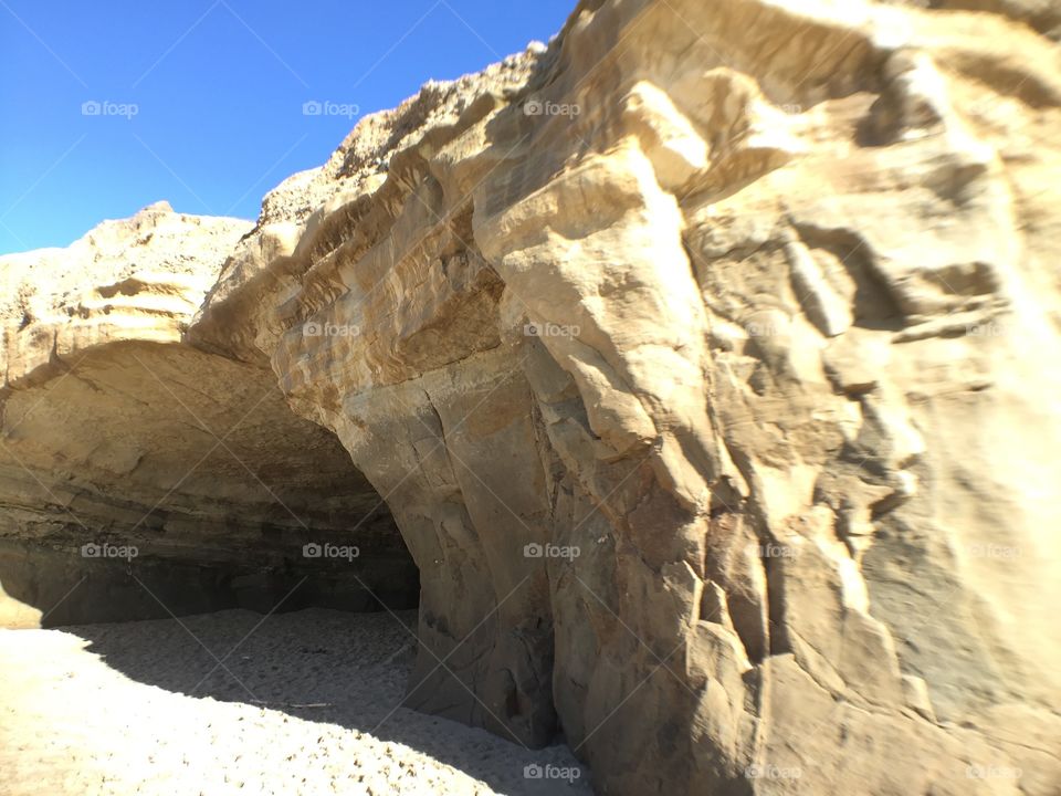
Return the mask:
<path fill-rule="evenodd" d="M 288 593 L 416 606 L 416 566 L 335 438 L 267 370 L 182 342 L 250 227 L 162 202 L 0 259 L 4 625 L 269 611 Z M 357 566 L 303 556 L 326 543 Z"/>

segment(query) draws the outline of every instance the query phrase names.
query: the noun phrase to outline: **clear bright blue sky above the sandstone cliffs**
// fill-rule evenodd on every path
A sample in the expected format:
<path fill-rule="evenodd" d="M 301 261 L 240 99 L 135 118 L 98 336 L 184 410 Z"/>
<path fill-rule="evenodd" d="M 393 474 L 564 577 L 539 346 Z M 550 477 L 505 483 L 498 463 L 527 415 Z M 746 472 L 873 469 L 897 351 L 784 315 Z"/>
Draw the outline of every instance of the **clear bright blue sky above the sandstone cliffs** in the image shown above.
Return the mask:
<path fill-rule="evenodd" d="M 0 253 L 66 245 L 159 199 L 255 218 L 265 191 L 327 159 L 354 106 L 546 41 L 574 6 L 0 0 Z M 333 115 L 303 114 L 314 101 Z"/>

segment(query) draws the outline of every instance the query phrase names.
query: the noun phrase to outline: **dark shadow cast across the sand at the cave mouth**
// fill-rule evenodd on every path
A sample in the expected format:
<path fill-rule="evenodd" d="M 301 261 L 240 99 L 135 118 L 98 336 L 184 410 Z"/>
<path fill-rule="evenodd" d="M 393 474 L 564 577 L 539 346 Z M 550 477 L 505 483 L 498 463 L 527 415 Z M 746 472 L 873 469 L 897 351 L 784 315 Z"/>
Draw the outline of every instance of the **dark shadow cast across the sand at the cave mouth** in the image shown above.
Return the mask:
<path fill-rule="evenodd" d="M 483 730 L 401 706 L 416 653 L 414 610 L 273 616 L 228 610 L 59 628 L 132 680 L 191 698 L 253 704 L 403 744 L 504 794 L 589 794 L 574 781 L 527 777 L 527 766 L 577 767 L 563 745 L 532 751 Z M 532 769 L 533 771 L 533 769 Z"/>

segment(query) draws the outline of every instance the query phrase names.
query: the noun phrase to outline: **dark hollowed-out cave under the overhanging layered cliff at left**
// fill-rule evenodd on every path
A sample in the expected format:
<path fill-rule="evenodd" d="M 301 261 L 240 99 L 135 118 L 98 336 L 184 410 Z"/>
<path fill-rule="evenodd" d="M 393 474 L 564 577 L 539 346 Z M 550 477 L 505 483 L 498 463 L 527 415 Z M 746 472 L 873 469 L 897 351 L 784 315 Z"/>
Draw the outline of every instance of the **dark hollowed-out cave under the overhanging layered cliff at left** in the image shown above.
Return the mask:
<path fill-rule="evenodd" d="M 416 608 L 386 501 L 272 373 L 119 342 L 9 390 L 0 626 Z"/>

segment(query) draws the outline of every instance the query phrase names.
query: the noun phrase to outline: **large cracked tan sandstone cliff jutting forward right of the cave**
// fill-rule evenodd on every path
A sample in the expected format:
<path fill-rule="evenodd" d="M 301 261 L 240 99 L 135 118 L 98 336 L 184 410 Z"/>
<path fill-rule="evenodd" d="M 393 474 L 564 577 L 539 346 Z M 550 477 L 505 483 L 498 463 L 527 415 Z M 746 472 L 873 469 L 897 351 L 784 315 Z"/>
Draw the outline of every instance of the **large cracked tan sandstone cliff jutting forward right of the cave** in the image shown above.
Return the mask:
<path fill-rule="evenodd" d="M 926 4 L 587 0 L 265 198 L 172 347 L 387 501 L 411 705 L 609 794 L 1057 793 L 1061 56 Z"/>

